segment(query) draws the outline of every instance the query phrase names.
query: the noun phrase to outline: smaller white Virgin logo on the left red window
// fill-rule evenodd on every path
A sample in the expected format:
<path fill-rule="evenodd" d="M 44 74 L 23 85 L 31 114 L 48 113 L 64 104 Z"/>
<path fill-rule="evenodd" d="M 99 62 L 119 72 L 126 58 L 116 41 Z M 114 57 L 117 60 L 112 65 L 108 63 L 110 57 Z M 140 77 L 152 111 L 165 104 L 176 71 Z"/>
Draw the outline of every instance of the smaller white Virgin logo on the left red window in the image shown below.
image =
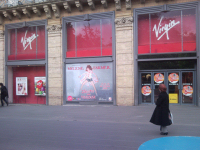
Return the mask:
<path fill-rule="evenodd" d="M 30 36 L 30 37 L 26 37 L 28 30 L 26 30 L 24 37 L 22 37 L 21 39 L 21 43 L 23 45 L 24 50 L 27 49 L 28 46 L 30 46 L 30 49 L 32 49 L 31 43 L 33 42 L 33 40 L 36 39 L 36 37 L 38 37 L 39 35 L 35 35 L 35 33 Z"/>

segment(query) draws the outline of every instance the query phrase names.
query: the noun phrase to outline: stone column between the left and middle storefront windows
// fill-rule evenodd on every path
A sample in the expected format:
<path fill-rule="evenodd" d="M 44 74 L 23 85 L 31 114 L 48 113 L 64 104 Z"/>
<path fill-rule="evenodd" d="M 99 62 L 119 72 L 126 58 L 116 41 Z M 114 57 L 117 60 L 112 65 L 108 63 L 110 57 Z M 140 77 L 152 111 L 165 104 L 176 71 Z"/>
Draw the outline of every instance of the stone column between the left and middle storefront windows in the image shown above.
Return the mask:
<path fill-rule="evenodd" d="M 63 104 L 62 27 L 48 25 L 48 92 L 49 105 Z"/>

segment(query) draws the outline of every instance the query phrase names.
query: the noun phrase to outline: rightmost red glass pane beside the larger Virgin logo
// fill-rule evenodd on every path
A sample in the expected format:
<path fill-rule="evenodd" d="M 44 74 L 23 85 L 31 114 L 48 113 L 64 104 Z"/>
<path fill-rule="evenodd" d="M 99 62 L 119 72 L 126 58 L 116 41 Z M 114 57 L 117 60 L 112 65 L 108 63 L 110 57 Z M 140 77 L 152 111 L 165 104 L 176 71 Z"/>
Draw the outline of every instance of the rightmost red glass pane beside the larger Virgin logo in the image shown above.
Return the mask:
<path fill-rule="evenodd" d="M 183 51 L 196 51 L 196 10 L 183 10 Z"/>

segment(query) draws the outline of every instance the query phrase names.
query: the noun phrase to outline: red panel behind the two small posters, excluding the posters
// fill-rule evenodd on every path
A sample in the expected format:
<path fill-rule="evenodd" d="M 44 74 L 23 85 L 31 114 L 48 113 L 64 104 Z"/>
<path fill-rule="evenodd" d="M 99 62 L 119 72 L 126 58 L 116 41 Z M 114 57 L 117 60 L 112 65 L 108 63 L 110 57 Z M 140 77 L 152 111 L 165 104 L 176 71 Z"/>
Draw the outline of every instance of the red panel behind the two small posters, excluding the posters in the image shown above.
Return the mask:
<path fill-rule="evenodd" d="M 13 68 L 13 103 L 22 104 L 46 104 L 45 96 L 35 96 L 34 77 L 42 77 L 45 75 L 44 66 L 35 67 L 14 67 Z M 28 95 L 16 95 L 16 77 L 28 78 Z"/>

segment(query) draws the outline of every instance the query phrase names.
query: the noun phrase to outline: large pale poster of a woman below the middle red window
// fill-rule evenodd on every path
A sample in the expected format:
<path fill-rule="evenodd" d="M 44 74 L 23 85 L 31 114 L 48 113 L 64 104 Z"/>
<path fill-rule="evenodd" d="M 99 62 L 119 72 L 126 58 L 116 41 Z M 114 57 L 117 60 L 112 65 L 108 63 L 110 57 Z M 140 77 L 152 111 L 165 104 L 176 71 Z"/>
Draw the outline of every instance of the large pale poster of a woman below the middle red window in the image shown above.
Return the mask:
<path fill-rule="evenodd" d="M 113 101 L 112 63 L 66 65 L 67 101 Z"/>

